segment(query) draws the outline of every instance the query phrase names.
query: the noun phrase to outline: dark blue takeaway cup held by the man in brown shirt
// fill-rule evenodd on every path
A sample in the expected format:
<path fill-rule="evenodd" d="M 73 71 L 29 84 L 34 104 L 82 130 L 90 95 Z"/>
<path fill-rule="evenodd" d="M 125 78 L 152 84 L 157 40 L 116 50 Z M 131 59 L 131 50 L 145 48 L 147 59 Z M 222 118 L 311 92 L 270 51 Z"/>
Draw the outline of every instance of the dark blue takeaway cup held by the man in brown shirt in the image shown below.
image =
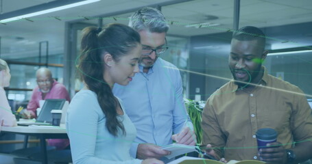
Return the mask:
<path fill-rule="evenodd" d="M 261 128 L 256 131 L 258 150 L 267 148 L 267 143 L 276 142 L 277 132 L 273 128 Z"/>

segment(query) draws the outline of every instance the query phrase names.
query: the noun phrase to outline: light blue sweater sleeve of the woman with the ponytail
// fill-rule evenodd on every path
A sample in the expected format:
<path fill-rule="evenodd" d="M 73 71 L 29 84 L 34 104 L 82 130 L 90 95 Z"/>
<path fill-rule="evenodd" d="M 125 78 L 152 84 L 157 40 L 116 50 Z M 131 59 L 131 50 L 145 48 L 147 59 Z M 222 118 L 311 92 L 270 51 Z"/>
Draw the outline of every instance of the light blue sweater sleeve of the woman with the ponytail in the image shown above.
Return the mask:
<path fill-rule="evenodd" d="M 95 156 L 97 141 L 97 123 L 101 111 L 98 107 L 96 96 L 91 93 L 83 93 L 75 96 L 71 101 L 67 113 L 67 134 L 71 142 L 73 163 L 93 164 L 139 164 L 141 160 L 110 161 Z M 105 120 L 104 120 L 105 121 Z M 110 145 L 113 146 L 113 145 Z"/>

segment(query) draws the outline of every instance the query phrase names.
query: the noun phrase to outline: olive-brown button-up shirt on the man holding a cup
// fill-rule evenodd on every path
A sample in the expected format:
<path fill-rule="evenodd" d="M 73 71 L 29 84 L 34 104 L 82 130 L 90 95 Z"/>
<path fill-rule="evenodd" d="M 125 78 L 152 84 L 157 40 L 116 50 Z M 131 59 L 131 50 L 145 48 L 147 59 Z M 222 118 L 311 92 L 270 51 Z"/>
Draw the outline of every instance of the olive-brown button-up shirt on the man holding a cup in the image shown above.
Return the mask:
<path fill-rule="evenodd" d="M 274 128 L 285 148 L 293 141 L 311 141 L 311 108 L 303 92 L 265 71 L 251 91 L 230 81 L 208 98 L 202 113 L 202 143 L 211 143 L 220 157 L 257 159 L 259 128 Z"/>

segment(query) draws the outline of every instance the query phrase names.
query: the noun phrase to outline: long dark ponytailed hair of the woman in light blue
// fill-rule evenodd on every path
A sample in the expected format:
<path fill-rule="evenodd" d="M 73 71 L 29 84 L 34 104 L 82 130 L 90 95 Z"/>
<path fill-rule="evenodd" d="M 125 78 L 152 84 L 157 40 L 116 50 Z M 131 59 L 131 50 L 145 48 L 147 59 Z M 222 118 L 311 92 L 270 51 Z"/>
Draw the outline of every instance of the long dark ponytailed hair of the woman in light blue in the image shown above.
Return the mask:
<path fill-rule="evenodd" d="M 118 101 L 104 80 L 104 60 L 101 55 L 110 53 L 115 61 L 119 61 L 121 56 L 132 51 L 141 42 L 139 33 L 122 24 L 108 25 L 102 31 L 98 31 L 96 27 L 86 27 L 82 32 L 82 55 L 78 66 L 82 80 L 89 90 L 97 94 L 110 134 L 117 136 L 120 128 L 125 135 L 123 124 L 117 120 Z"/>

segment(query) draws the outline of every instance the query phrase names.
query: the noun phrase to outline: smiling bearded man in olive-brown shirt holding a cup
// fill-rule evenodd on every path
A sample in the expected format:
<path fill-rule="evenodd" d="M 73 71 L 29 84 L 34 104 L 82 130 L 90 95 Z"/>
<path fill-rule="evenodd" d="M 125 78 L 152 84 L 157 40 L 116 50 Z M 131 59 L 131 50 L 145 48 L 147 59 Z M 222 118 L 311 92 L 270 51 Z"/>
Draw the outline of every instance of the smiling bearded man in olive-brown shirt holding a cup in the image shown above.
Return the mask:
<path fill-rule="evenodd" d="M 228 65 L 235 80 L 217 90 L 202 113 L 203 143 L 217 159 L 299 163 L 312 159 L 311 108 L 304 93 L 267 74 L 265 35 L 243 27 L 231 42 Z M 257 149 L 259 128 L 278 132 L 274 148 Z"/>

